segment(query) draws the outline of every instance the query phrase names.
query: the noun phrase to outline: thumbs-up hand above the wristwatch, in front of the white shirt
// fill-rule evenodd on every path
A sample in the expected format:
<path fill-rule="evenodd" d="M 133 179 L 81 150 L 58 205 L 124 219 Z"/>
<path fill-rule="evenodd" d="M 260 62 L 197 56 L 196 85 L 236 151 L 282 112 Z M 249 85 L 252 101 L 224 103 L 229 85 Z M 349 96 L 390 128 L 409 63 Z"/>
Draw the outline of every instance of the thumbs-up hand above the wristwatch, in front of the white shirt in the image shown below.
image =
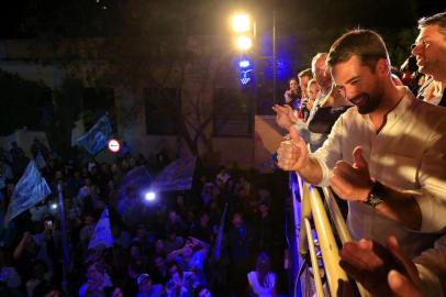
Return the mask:
<path fill-rule="evenodd" d="M 373 180 L 370 178 L 368 164 L 363 156 L 363 147 L 355 147 L 353 160 L 353 164 L 344 160 L 336 163 L 330 186 L 345 200 L 366 201 L 373 186 Z"/>

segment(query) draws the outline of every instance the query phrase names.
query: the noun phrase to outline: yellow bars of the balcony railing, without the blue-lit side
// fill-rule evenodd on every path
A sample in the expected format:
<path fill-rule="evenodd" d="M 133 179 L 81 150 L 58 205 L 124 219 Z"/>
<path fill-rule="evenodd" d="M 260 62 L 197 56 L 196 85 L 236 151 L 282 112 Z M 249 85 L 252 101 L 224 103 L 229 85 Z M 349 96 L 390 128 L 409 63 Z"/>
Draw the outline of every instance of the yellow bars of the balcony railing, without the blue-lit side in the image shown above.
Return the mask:
<path fill-rule="evenodd" d="M 336 200 L 328 188 L 323 189 L 324 200 L 328 207 L 330 219 L 327 212 L 325 211 L 325 207 L 319 190 L 315 187 L 304 183 L 299 176 L 298 180 L 301 194 L 299 253 L 302 256 L 310 254 L 316 296 L 324 296 L 324 290 L 321 271 L 319 268 L 320 265 L 316 255 L 316 246 L 313 239 L 313 230 L 311 228 L 311 219 L 313 219 L 314 222 L 319 249 L 322 254 L 323 270 L 326 275 L 331 296 L 354 296 L 354 289 L 350 286 L 348 276 L 339 266 L 339 249 L 332 229 L 333 222 L 342 244 L 352 241 Z M 360 289 L 360 292 L 363 292 L 363 289 Z"/>

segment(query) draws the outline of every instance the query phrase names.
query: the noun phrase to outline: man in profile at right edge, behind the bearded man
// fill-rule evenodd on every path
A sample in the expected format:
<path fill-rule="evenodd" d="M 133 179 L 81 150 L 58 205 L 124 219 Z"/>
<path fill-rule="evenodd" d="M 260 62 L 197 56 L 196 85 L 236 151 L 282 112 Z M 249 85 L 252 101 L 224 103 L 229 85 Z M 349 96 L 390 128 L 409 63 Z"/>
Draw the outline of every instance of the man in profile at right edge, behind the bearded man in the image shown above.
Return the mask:
<path fill-rule="evenodd" d="M 412 48 L 419 72 L 431 77 L 419 98 L 446 107 L 446 11 L 419 21 L 420 34 Z"/>

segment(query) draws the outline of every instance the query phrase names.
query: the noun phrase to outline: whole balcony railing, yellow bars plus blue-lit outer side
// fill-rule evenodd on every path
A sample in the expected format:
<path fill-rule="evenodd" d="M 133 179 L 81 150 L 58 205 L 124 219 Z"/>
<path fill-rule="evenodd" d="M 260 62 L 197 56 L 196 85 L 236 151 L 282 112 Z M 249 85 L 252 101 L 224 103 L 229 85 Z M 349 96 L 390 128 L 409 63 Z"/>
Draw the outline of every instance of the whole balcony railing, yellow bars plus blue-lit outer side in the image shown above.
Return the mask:
<path fill-rule="evenodd" d="M 296 227 L 293 264 L 299 267 L 293 273 L 293 296 L 367 296 L 339 266 L 339 249 L 352 237 L 331 189 L 323 188 L 321 197 L 316 187 L 296 173 L 290 174 L 290 188 Z M 304 270 L 312 274 L 305 282 L 301 279 Z"/>

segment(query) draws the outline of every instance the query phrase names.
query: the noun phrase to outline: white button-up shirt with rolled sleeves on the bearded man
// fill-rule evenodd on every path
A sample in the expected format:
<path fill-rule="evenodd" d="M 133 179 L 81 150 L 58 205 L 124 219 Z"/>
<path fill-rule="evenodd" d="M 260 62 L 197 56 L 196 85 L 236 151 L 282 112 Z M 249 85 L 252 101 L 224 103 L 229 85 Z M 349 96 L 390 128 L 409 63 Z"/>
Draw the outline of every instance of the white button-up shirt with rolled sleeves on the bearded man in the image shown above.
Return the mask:
<path fill-rule="evenodd" d="M 372 178 L 412 193 L 422 212 L 421 232 L 408 230 L 356 201 L 348 204 L 347 224 L 354 239 L 384 244 L 393 234 L 404 252 L 414 256 L 432 246 L 446 227 L 446 109 L 416 100 L 405 87 L 400 92 L 405 95 L 389 112 L 379 133 L 368 114 L 350 108 L 313 156 L 323 172 L 320 186 L 327 186 L 336 162 L 353 163 L 353 151 L 360 145 Z"/>

